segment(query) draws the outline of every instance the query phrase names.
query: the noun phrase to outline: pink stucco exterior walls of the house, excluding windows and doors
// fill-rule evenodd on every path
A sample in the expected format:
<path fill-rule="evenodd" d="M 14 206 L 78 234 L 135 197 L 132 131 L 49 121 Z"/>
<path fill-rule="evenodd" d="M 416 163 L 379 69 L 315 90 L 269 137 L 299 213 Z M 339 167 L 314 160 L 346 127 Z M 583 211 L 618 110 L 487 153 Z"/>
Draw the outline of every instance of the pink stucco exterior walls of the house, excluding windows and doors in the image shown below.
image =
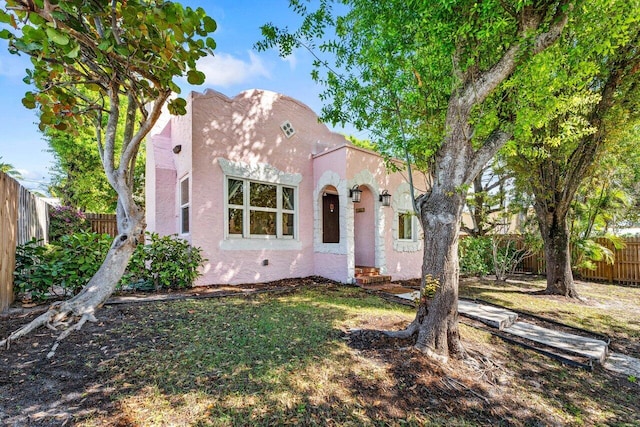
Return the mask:
<path fill-rule="evenodd" d="M 208 259 L 197 284 L 255 283 L 313 274 L 350 282 L 356 248 L 366 254 L 363 262 L 381 267 L 393 279 L 419 277 L 422 246 L 410 252 L 396 250 L 394 208 L 383 208 L 378 201 L 381 190 L 393 195 L 404 179 L 401 174 L 388 175 L 375 153 L 346 146 L 344 137 L 318 123 L 308 107 L 273 92 L 250 90 L 228 98 L 208 90 L 192 93 L 187 104 L 186 116 L 163 121 L 150 138 L 147 223 L 150 231 L 162 234 L 179 230 L 178 186 L 189 176 L 191 232 L 181 237 L 202 248 Z M 280 128 L 284 121 L 296 131 L 290 138 Z M 178 144 L 182 150 L 174 154 L 171 150 Z M 272 182 L 273 176 L 294 180 L 297 236 L 293 240 L 227 236 L 225 173 L 260 182 Z M 354 236 L 355 207 L 348 198 L 353 184 L 369 189 L 362 202 L 369 217 L 359 224 L 373 229 L 368 242 L 360 238 L 364 233 Z M 340 200 L 338 244 L 322 243 L 321 197 L 327 186 L 337 190 Z"/>

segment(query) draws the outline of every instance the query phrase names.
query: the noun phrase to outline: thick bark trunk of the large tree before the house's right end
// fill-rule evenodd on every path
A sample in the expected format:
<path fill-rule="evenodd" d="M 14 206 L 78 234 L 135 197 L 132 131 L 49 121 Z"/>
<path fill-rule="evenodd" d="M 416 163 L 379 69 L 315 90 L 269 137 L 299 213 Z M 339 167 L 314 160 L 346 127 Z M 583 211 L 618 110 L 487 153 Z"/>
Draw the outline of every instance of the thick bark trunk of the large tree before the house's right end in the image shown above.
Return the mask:
<path fill-rule="evenodd" d="M 451 132 L 436 155 L 431 189 L 419 202 L 424 254 L 422 297 L 414 320 L 415 346 L 442 361 L 449 356 L 464 355 L 458 331 L 458 236 L 465 185 L 480 172 L 477 165 L 473 167 L 478 158 L 467 136 L 472 133 L 466 120 L 469 111 L 466 106 L 460 108 L 459 104 L 450 107 L 448 124 Z M 433 281 L 437 290 L 429 300 L 425 297 L 425 285 Z"/>

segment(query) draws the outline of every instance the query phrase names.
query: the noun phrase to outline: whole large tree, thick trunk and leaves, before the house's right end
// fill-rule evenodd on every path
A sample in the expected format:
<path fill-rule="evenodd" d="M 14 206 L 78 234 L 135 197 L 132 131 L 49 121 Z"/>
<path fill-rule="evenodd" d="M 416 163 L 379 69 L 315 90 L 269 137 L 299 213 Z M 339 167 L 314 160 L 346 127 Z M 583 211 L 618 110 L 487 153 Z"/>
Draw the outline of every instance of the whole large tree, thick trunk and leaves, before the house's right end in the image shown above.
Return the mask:
<path fill-rule="evenodd" d="M 512 135 L 495 94 L 557 40 L 574 2 L 348 0 L 335 13 L 336 3 L 311 10 L 291 0 L 300 28 L 267 24 L 258 47 L 317 51 L 312 77 L 325 85 L 323 119 L 368 130 L 381 150 L 428 166 L 431 188 L 416 203 L 422 290 L 432 282 L 438 289 L 432 300 L 423 292 L 399 335 L 417 335 L 416 347 L 436 358 L 462 355 L 457 251 L 466 188 Z"/>

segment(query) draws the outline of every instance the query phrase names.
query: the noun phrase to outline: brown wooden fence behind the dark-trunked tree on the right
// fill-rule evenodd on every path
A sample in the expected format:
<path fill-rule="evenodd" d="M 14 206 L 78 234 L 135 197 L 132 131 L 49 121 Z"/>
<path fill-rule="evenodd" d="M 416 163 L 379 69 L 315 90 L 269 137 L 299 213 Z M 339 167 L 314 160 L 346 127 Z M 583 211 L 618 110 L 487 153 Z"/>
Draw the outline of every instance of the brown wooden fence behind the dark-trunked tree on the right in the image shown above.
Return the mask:
<path fill-rule="evenodd" d="M 577 278 L 611 283 L 640 284 L 640 237 L 624 238 L 625 247 L 623 249 L 614 248 L 606 239 L 596 239 L 596 241 L 613 252 L 613 264 L 608 264 L 604 260 L 595 261 L 595 270 L 579 269 L 575 272 Z M 533 254 L 523 260 L 516 271 L 544 275 L 546 273 L 544 252 Z"/>

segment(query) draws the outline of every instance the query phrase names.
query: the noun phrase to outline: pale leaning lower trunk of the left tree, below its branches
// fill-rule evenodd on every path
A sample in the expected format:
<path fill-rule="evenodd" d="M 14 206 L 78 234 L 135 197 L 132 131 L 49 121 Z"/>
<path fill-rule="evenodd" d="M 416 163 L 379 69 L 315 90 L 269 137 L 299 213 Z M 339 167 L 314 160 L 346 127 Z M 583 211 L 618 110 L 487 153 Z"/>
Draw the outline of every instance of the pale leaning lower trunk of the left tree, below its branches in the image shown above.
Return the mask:
<path fill-rule="evenodd" d="M 141 211 L 135 210 L 136 212 L 130 212 L 126 219 L 122 218 L 124 214 L 119 210 L 120 234 L 115 237 L 104 262 L 82 291 L 67 301 L 52 304 L 46 312 L 0 341 L 0 347 L 9 347 L 13 341 L 40 326 L 52 329 L 61 327 L 62 333 L 47 356 L 51 357 L 60 340 L 72 331 L 80 329 L 87 321 L 95 322 L 97 320 L 94 314 L 96 309 L 102 306 L 114 292 L 129 264 L 138 238 L 144 232 L 143 214 Z"/>

